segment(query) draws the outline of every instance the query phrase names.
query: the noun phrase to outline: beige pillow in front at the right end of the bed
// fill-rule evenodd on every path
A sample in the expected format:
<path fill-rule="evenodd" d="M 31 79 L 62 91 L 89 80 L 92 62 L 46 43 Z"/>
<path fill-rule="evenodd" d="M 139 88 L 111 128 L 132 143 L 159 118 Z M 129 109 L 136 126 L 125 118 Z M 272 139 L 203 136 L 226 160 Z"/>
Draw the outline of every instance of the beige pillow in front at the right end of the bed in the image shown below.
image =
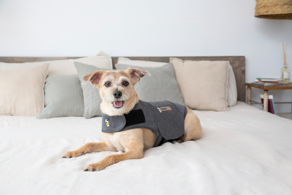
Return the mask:
<path fill-rule="evenodd" d="M 170 58 L 183 96 L 191 109 L 227 111 L 229 61 Z"/>

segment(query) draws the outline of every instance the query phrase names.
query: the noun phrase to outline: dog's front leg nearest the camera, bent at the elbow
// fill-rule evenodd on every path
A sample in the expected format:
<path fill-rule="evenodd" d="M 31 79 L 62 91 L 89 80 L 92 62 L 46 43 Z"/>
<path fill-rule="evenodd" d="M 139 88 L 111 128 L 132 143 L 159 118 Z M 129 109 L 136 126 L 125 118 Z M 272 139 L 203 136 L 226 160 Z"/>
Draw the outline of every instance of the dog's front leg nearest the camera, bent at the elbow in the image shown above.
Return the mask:
<path fill-rule="evenodd" d="M 128 134 L 123 134 L 121 137 L 123 139 L 123 146 L 126 151 L 125 153 L 107 156 L 97 163 L 88 165 L 84 171 L 100 171 L 123 160 L 143 158 L 142 129 L 132 129 L 128 131 Z"/>

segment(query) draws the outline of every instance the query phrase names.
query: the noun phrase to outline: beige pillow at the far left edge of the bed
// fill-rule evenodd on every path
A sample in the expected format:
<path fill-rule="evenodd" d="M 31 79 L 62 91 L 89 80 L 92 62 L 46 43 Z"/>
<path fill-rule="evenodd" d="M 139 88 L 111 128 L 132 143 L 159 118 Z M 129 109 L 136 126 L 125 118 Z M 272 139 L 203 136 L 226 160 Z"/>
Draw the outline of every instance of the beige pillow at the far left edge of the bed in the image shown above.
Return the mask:
<path fill-rule="evenodd" d="M 43 109 L 44 84 L 50 64 L 0 71 L 0 115 L 37 116 Z"/>

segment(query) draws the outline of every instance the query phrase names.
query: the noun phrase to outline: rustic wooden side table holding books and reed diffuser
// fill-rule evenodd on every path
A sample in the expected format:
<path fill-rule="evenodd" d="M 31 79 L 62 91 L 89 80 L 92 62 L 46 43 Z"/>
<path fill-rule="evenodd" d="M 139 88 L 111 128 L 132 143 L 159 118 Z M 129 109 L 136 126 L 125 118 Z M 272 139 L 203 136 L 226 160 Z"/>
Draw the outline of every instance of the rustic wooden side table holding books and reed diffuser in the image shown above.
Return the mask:
<path fill-rule="evenodd" d="M 245 86 L 247 86 L 247 104 L 248 105 L 261 104 L 261 105 L 264 106 L 264 111 L 265 112 L 268 112 L 269 90 L 292 89 L 292 83 L 273 85 L 273 86 L 264 86 L 264 85 L 256 85 L 256 84 L 251 84 L 251 83 L 245 83 Z M 252 87 L 264 90 L 264 103 L 260 103 L 260 102 L 251 100 Z M 292 102 L 274 102 L 274 103 L 292 103 Z"/>

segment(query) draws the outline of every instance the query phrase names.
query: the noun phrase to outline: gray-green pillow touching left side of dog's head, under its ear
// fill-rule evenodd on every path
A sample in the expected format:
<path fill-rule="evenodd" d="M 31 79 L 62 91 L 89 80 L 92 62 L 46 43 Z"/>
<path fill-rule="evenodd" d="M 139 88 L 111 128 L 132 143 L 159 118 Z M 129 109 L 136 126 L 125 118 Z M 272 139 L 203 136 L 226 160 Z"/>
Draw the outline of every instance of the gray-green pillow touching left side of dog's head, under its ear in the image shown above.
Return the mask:
<path fill-rule="evenodd" d="M 112 69 L 104 69 L 104 68 L 97 68 L 96 66 L 83 64 L 80 62 L 74 62 L 74 65 L 78 72 L 78 78 L 81 82 L 81 88 L 83 91 L 83 101 L 84 101 L 84 114 L 83 117 L 91 118 L 102 116 L 100 110 L 100 104 L 102 99 L 99 95 L 99 89 L 96 86 L 91 85 L 90 83 L 86 85 L 82 85 L 83 76 L 88 75 L 94 71 L 101 71 L 101 70 L 112 70 Z"/>

